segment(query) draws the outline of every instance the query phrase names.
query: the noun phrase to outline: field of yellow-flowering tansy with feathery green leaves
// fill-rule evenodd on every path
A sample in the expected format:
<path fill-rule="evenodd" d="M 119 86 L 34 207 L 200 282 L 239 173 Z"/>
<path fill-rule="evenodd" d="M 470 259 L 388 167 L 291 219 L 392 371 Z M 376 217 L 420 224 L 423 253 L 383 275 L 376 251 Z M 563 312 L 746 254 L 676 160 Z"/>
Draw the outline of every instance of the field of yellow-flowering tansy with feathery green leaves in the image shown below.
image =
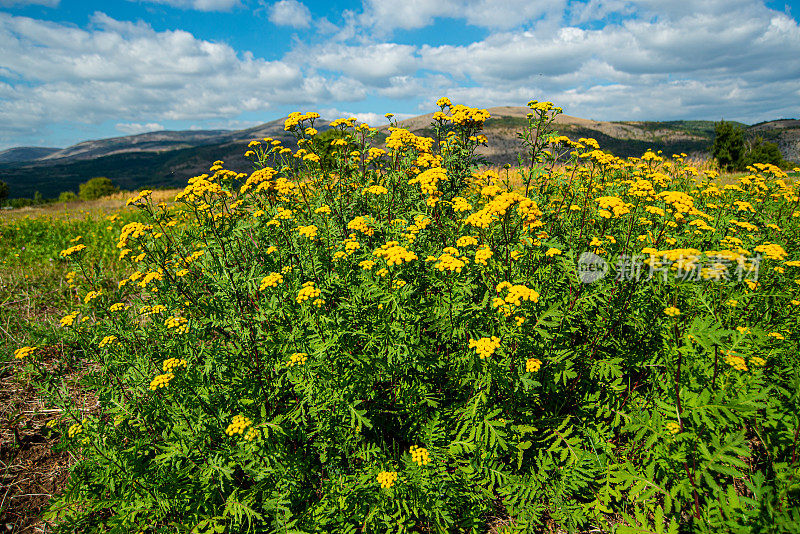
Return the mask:
<path fill-rule="evenodd" d="M 532 101 L 487 171 L 489 114 L 437 105 L 0 225 L 4 308 L 63 310 L 0 317 L 70 459 L 50 527 L 800 529 L 799 170 L 622 160 Z"/>

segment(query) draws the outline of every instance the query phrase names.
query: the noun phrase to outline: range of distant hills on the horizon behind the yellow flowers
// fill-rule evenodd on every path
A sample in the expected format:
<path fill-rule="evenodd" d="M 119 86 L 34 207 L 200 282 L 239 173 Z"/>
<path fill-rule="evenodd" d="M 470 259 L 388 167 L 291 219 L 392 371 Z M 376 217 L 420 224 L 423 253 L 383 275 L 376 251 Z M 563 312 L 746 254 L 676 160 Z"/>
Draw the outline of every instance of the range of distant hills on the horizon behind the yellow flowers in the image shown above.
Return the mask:
<path fill-rule="evenodd" d="M 489 147 L 480 154 L 494 165 L 516 164 L 522 145 L 517 132 L 527 125 L 526 107 L 490 108 L 484 133 Z M 401 127 L 417 134 L 430 134 L 433 114 L 400 121 Z M 320 131 L 329 123 L 317 122 Z M 761 136 L 778 144 L 784 158 L 800 160 L 800 121 L 781 119 L 746 128 L 748 135 Z M 593 137 L 603 150 L 620 157 L 640 156 L 645 150 L 662 150 L 666 155 L 686 153 L 706 157 L 714 139 L 714 121 L 595 121 L 560 115 L 559 133 L 578 139 Z M 380 129 L 379 140 L 388 128 Z M 62 191 L 78 190 L 78 184 L 95 176 L 107 176 L 123 189 L 141 187 L 182 187 L 192 176 L 206 172 L 215 160 L 227 168 L 249 172 L 252 163 L 244 158 L 247 143 L 272 137 L 293 146 L 283 130 L 283 119 L 245 130 L 161 131 L 125 137 L 84 141 L 65 148 L 12 148 L 0 152 L 0 180 L 9 184 L 11 198 L 32 197 L 39 191 L 45 198 Z"/>

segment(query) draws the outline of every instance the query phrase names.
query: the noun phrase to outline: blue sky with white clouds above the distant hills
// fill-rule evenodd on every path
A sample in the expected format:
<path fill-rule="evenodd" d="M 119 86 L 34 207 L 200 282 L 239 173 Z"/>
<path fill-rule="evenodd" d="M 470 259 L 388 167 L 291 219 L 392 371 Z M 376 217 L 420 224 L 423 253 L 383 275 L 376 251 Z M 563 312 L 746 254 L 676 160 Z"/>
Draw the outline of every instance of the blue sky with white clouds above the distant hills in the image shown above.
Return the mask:
<path fill-rule="evenodd" d="M 0 149 L 319 111 L 552 100 L 597 120 L 800 117 L 800 5 L 0 0 Z"/>

